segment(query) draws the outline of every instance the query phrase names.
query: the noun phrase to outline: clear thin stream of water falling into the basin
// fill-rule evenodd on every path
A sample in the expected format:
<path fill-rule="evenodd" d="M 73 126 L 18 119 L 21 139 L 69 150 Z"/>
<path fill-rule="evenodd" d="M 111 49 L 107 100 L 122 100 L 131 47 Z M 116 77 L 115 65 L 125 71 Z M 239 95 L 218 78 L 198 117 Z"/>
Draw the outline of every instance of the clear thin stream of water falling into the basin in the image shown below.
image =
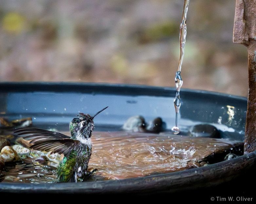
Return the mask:
<path fill-rule="evenodd" d="M 187 12 L 188 12 L 188 7 L 189 7 L 189 0 L 184 1 L 184 7 L 183 7 L 183 14 L 182 14 L 182 22 L 180 24 L 180 58 L 179 58 L 179 66 L 178 70 L 175 75 L 175 85 L 176 85 L 176 96 L 174 99 L 174 107 L 175 107 L 175 112 L 176 112 L 176 120 L 175 120 L 175 126 L 173 126 L 172 131 L 173 133 L 179 134 L 180 129 L 178 127 L 178 115 L 179 115 L 179 109 L 181 105 L 181 100 L 180 100 L 180 88 L 183 84 L 183 80 L 181 78 L 181 66 L 183 62 L 183 57 L 184 57 L 184 47 L 185 47 L 185 42 L 186 42 L 186 35 L 187 35 L 187 25 L 186 25 L 186 19 L 187 19 Z"/>

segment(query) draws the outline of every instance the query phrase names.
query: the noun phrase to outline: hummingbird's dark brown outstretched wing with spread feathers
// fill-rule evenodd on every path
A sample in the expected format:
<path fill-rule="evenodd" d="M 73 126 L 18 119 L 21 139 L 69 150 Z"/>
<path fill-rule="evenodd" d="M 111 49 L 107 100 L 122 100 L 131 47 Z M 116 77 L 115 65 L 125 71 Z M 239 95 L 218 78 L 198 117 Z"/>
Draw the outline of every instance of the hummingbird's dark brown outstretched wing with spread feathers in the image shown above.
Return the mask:
<path fill-rule="evenodd" d="M 55 131 L 43 130 L 33 127 L 24 127 L 14 130 L 14 135 L 31 140 L 30 148 L 40 151 L 52 151 L 68 156 L 72 150 L 75 150 L 80 141 Z"/>

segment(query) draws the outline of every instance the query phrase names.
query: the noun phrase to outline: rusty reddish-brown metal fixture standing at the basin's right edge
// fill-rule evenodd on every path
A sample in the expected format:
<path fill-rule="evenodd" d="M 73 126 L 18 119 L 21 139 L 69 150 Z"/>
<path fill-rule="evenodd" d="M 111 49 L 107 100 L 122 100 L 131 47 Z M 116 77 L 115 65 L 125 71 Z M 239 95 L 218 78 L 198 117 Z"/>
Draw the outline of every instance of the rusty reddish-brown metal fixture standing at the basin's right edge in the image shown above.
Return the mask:
<path fill-rule="evenodd" d="M 256 150 L 256 0 L 236 0 L 233 42 L 248 49 L 248 100 L 244 153 Z"/>

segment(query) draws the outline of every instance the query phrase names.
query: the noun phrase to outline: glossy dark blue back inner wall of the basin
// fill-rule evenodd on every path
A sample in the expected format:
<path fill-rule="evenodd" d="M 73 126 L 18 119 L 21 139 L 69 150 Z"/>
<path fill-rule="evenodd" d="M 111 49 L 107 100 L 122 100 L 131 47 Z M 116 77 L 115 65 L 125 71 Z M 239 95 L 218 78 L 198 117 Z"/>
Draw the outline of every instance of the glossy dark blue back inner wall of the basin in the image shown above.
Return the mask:
<path fill-rule="evenodd" d="M 88 83 L 0 83 L 0 115 L 11 119 L 32 117 L 33 124 L 56 127 L 68 123 L 79 112 L 93 115 L 97 126 L 121 126 L 130 116 L 142 115 L 146 121 L 162 117 L 167 129 L 175 123 L 174 88 L 124 84 Z M 187 90 L 181 92 L 179 125 L 221 124 L 244 134 L 247 100 L 244 97 Z M 232 108 L 233 117 L 229 108 Z M 59 127 L 56 127 L 59 129 Z"/>

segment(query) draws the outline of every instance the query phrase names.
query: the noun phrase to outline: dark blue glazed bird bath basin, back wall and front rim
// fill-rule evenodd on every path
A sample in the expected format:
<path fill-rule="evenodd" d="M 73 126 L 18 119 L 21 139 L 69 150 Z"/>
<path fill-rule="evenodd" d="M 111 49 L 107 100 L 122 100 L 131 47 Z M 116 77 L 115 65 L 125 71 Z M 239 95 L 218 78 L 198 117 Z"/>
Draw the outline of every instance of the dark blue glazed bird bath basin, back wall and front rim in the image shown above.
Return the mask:
<path fill-rule="evenodd" d="M 80 111 L 93 114 L 109 106 L 95 120 L 96 131 L 120 131 L 131 116 L 152 120 L 161 117 L 170 131 L 175 123 L 174 88 L 124 84 L 1 83 L 1 117 L 32 117 L 33 126 L 68 131 L 68 123 Z M 182 91 L 179 114 L 181 132 L 194 124 L 214 124 L 221 138 L 243 140 L 247 99 L 206 91 Z M 103 113 L 103 112 L 102 112 Z M 241 177 L 255 167 L 256 153 L 210 166 L 123 180 L 81 183 L 7 183 L 0 192 L 18 193 L 149 193 L 181 192 L 212 187 Z"/>

